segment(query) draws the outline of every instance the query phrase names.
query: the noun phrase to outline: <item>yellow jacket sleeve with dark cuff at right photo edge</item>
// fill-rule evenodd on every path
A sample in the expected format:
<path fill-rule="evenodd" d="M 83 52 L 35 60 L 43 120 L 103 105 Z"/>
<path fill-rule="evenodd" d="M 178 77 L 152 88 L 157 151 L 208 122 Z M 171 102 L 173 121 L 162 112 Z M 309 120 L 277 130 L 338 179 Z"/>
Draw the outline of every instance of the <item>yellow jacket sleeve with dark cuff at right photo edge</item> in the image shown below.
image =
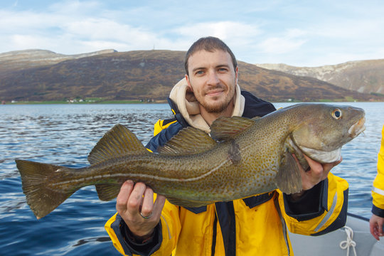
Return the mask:
<path fill-rule="evenodd" d="M 384 126 L 381 131 L 381 146 L 378 154 L 378 174 L 373 181 L 372 213 L 384 218 Z"/>

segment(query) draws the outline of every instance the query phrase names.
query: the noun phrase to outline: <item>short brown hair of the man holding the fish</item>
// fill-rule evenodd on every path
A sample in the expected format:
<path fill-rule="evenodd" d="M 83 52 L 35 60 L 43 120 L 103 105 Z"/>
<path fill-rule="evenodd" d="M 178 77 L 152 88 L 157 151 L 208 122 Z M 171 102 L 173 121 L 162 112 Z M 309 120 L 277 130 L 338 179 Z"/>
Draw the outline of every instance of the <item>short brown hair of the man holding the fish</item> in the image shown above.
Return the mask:
<path fill-rule="evenodd" d="M 186 74 L 188 73 L 188 59 L 193 55 L 193 53 L 196 53 L 200 50 L 206 50 L 210 53 L 213 53 L 215 50 L 223 50 L 224 52 L 227 52 L 230 54 L 230 58 L 232 59 L 233 68 L 236 70 L 236 67 L 238 66 L 238 62 L 236 61 L 235 55 L 233 54 L 232 50 L 219 38 L 215 38 L 213 36 L 208 36 L 204 38 L 198 39 L 191 48 L 186 53 L 186 59 L 184 60 L 184 68 L 186 69 Z"/>

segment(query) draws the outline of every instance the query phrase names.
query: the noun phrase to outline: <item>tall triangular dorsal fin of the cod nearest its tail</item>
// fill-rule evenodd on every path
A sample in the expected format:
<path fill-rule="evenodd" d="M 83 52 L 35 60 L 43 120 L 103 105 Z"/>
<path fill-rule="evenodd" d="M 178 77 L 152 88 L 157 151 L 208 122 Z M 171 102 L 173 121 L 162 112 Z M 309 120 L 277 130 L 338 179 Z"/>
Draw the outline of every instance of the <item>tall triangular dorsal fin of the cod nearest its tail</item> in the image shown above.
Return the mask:
<path fill-rule="evenodd" d="M 97 142 L 88 156 L 90 164 L 135 152 L 148 152 L 142 142 L 127 127 L 116 124 Z"/>

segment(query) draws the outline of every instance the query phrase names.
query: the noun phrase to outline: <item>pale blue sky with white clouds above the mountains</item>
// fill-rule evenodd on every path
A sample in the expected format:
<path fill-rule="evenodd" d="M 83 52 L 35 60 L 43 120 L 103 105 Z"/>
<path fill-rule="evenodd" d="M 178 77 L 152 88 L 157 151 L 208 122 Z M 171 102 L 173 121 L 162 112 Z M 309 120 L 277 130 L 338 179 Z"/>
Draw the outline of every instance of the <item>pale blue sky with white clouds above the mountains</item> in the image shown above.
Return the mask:
<path fill-rule="evenodd" d="M 188 50 L 203 36 L 252 64 L 380 59 L 384 1 L 0 0 L 0 53 Z"/>

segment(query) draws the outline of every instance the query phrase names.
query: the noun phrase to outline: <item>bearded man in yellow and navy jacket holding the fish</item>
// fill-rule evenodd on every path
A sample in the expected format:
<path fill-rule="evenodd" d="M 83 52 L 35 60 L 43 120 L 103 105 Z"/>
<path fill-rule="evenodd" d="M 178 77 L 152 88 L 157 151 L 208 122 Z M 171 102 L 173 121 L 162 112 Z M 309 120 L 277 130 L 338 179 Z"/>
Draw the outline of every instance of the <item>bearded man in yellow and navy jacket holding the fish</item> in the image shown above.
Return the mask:
<path fill-rule="evenodd" d="M 147 148 L 156 151 L 183 127 L 210 132 L 218 117 L 263 116 L 269 102 L 238 86 L 238 64 L 218 38 L 201 38 L 188 50 L 186 77 L 171 90 L 174 122 L 158 122 Z M 166 129 L 163 129 L 166 128 Z M 199 208 L 174 206 L 144 183 L 127 181 L 117 196 L 117 215 L 105 225 L 117 250 L 125 255 L 293 255 L 287 227 L 294 233 L 321 235 L 346 221 L 348 183 L 329 173 L 338 164 L 306 158 L 303 190 L 281 191 Z M 298 163 L 298 161 L 297 161 Z"/>

